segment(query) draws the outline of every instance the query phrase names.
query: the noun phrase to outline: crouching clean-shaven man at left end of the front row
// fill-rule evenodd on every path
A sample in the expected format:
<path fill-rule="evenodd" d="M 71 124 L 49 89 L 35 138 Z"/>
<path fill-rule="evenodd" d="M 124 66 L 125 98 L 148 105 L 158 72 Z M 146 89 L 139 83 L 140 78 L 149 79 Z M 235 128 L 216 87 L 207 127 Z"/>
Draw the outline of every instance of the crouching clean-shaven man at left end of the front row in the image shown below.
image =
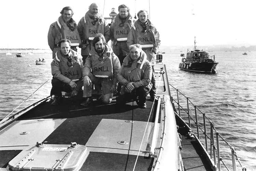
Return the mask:
<path fill-rule="evenodd" d="M 71 97 L 83 87 L 82 69 L 83 62 L 77 57 L 77 53 L 71 49 L 71 42 L 62 39 L 59 42 L 60 50 L 55 53 L 55 58 L 51 63 L 52 67 L 52 90 L 53 96 L 51 105 L 58 105 L 61 91 L 68 92 Z"/>

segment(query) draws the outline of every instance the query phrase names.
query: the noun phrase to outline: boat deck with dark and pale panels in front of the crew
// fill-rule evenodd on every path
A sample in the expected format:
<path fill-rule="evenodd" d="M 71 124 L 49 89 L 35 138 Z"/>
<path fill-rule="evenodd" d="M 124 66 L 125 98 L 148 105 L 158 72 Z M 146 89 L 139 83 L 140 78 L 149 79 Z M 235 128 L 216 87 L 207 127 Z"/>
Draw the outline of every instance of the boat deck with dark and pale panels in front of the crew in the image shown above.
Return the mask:
<path fill-rule="evenodd" d="M 157 65 L 155 69 L 158 78 L 162 66 Z M 169 96 L 166 73 L 157 82 L 158 84 L 158 95 Z M 149 155 L 149 150 L 157 101 L 153 104 L 152 101 L 147 100 L 146 109 L 138 108 L 136 102 L 129 102 L 124 107 L 120 107 L 116 105 L 115 98 L 107 105 L 95 100 L 93 108 L 80 106 L 80 102 L 81 99 L 74 101 L 71 98 L 63 98 L 61 105 L 50 106 L 47 100 L 1 128 L 0 156 L 4 159 L 0 160 L 0 170 L 6 168 L 8 162 L 22 150 L 25 152 L 30 150 L 36 142 L 43 142 L 46 147 L 47 145 L 50 147 L 50 144 L 59 144 L 62 147 L 76 142 L 89 151 L 79 170 L 112 171 L 133 170 L 142 144 L 135 170 L 152 170 L 156 158 Z M 160 114 L 158 124 L 161 123 L 162 117 Z M 184 169 L 212 170 L 211 163 L 205 160 L 206 157 L 202 154 L 199 144 L 186 137 L 187 130 L 183 121 L 176 117 L 176 122 L 182 135 Z M 144 131 L 145 137 L 142 140 Z M 159 133 L 156 147 L 160 145 L 160 136 Z M 120 144 L 121 141 L 127 144 Z"/>

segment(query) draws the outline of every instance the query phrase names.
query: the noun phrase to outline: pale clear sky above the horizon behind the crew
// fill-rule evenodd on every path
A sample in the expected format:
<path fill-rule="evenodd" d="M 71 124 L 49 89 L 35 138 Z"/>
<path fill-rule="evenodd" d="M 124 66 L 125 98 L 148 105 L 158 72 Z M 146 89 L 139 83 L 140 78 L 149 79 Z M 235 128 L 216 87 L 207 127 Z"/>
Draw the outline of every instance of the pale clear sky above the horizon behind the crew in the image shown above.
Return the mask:
<path fill-rule="evenodd" d="M 120 4 L 150 12 L 160 33 L 161 45 L 178 47 L 256 45 L 256 1 L 253 0 L 4 0 L 1 2 L 0 48 L 49 49 L 47 34 L 51 23 L 65 6 L 74 10 L 78 23 L 96 2 L 104 17 Z M 104 5 L 105 4 L 105 5 Z"/>

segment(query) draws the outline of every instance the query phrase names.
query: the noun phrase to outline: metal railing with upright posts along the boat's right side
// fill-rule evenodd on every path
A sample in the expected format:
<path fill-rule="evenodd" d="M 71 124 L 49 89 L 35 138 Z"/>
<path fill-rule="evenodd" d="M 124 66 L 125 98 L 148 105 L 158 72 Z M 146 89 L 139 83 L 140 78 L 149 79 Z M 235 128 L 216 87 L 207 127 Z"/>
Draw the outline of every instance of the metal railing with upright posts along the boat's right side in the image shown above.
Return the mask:
<path fill-rule="evenodd" d="M 214 55 L 213 55 L 214 56 Z M 213 151 L 213 158 L 214 158 L 214 164 L 217 165 L 218 171 L 221 171 L 221 161 L 223 163 L 223 165 L 225 166 L 225 168 L 229 171 L 229 169 L 227 168 L 226 164 L 224 163 L 222 157 L 220 156 L 220 149 L 219 149 L 219 137 L 230 147 L 231 149 L 231 156 L 232 156 L 232 169 L 233 171 L 237 171 L 237 167 L 236 167 L 236 160 L 239 162 L 240 166 L 242 167 L 242 170 L 246 170 L 246 168 L 244 168 L 241 164 L 240 161 L 240 157 L 237 156 L 236 154 L 236 150 L 233 146 L 231 146 L 215 129 L 215 126 L 213 124 L 213 122 L 205 115 L 205 113 L 203 113 L 195 104 L 193 104 L 193 102 L 191 102 L 189 100 L 188 97 L 186 97 L 183 93 L 181 93 L 178 89 L 176 89 L 174 86 L 172 86 L 171 84 L 169 84 L 171 87 L 173 87 L 176 92 L 177 92 L 177 101 L 175 101 L 173 99 L 173 97 L 171 97 L 172 102 L 177 103 L 178 105 L 178 109 L 179 109 L 179 116 L 181 117 L 180 114 L 180 108 L 184 110 L 184 112 L 187 114 L 188 119 L 189 119 L 189 127 L 191 129 L 191 125 L 190 125 L 190 119 L 194 121 L 194 123 L 196 124 L 196 129 L 197 129 L 197 138 L 200 139 L 200 135 L 199 135 L 199 129 L 203 132 L 204 134 L 204 139 L 205 139 L 205 149 L 206 151 L 209 153 L 208 151 L 208 143 L 207 143 L 207 138 L 210 139 L 211 141 L 211 145 L 210 145 L 210 156 L 212 158 L 212 151 Z M 184 96 L 187 100 L 187 111 L 180 105 L 180 99 L 179 99 L 179 93 Z M 191 117 L 190 113 L 189 113 L 189 102 L 193 105 L 194 109 L 195 109 L 195 117 L 196 117 L 196 121 Z M 197 117 L 197 111 L 199 111 L 202 115 L 203 115 L 203 126 L 204 126 L 204 130 L 201 129 L 201 127 L 198 125 L 198 117 Z M 177 114 L 177 113 L 176 113 Z M 205 122 L 205 118 L 209 121 L 210 125 L 211 125 L 211 137 L 209 138 L 207 136 L 207 130 L 206 130 L 206 122 Z M 216 145 L 214 144 L 214 134 L 213 134 L 213 130 L 215 131 L 215 137 L 216 137 Z M 217 158 L 216 158 L 216 152 L 217 152 Z M 216 161 L 217 160 L 217 161 Z M 218 164 L 217 164 L 218 162 Z"/>

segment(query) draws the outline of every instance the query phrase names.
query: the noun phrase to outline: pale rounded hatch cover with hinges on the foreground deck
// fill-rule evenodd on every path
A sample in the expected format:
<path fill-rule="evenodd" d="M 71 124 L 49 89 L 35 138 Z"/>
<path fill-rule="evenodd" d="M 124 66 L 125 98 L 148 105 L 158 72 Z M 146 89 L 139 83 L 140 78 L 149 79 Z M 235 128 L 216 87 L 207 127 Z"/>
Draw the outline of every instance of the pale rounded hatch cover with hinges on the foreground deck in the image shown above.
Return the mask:
<path fill-rule="evenodd" d="M 86 146 L 68 148 L 69 144 L 47 144 L 46 147 L 31 147 L 23 150 L 9 162 L 13 171 L 73 171 L 83 165 L 88 151 Z"/>

